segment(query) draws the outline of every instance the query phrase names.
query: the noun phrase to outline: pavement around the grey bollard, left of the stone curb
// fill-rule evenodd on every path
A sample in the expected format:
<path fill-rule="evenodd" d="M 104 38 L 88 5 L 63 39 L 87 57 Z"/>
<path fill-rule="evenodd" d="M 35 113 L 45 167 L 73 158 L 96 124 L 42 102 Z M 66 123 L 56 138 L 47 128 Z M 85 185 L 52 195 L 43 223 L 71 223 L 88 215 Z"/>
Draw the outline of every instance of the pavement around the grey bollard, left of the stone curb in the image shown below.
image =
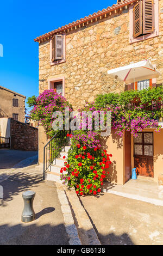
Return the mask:
<path fill-rule="evenodd" d="M 42 181 L 42 172 L 35 171 L 35 165 L 2 174 L 8 179 L 0 183 L 0 245 L 68 245 L 55 183 Z M 26 190 L 36 192 L 35 221 L 30 223 L 21 222 L 22 193 Z"/>

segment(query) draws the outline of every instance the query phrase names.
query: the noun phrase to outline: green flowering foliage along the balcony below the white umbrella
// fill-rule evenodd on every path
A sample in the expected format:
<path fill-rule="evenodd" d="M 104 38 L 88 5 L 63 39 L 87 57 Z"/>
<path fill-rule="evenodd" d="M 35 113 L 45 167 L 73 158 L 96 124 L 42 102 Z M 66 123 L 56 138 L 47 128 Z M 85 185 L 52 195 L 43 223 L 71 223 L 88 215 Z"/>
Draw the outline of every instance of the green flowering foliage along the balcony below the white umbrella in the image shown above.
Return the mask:
<path fill-rule="evenodd" d="M 163 97 L 162 87 L 143 90 L 128 90 L 120 94 L 108 93 L 98 95 L 95 100 L 96 109 L 111 106 L 121 106 L 133 118 L 148 117 L 159 119 L 162 114 L 161 103 Z"/>

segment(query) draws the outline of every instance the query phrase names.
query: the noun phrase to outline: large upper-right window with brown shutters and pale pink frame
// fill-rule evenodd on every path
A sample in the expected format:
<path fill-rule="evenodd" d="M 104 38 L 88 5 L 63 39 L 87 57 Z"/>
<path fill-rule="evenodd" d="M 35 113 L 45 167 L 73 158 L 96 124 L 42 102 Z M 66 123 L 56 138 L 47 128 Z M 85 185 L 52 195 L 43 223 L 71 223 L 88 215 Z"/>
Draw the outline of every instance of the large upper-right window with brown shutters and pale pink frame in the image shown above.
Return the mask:
<path fill-rule="evenodd" d="M 130 5 L 130 43 L 159 35 L 158 0 L 140 0 Z"/>

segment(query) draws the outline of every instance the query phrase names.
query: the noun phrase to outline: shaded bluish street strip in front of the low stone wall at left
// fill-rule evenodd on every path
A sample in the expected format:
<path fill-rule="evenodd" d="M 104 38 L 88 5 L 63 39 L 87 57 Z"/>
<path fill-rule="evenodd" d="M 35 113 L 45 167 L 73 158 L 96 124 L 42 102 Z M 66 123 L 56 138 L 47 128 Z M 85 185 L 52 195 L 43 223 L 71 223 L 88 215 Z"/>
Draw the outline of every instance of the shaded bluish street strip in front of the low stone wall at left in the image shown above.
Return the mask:
<path fill-rule="evenodd" d="M 12 149 L 0 149 L 0 172 L 1 169 L 9 168 L 22 168 L 29 166 L 30 164 L 37 163 L 37 151 L 22 151 L 22 150 L 12 150 Z M 30 158 L 33 157 L 33 159 Z M 22 160 L 28 159 L 28 161 L 20 163 Z"/>

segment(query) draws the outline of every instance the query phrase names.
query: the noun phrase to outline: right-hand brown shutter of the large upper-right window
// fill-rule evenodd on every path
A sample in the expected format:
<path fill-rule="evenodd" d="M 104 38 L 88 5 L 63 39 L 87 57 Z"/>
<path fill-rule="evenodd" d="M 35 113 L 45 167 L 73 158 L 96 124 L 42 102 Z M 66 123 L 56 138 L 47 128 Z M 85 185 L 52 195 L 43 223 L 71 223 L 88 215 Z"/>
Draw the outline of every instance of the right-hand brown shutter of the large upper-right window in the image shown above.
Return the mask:
<path fill-rule="evenodd" d="M 143 34 L 154 31 L 154 2 L 143 0 Z"/>

